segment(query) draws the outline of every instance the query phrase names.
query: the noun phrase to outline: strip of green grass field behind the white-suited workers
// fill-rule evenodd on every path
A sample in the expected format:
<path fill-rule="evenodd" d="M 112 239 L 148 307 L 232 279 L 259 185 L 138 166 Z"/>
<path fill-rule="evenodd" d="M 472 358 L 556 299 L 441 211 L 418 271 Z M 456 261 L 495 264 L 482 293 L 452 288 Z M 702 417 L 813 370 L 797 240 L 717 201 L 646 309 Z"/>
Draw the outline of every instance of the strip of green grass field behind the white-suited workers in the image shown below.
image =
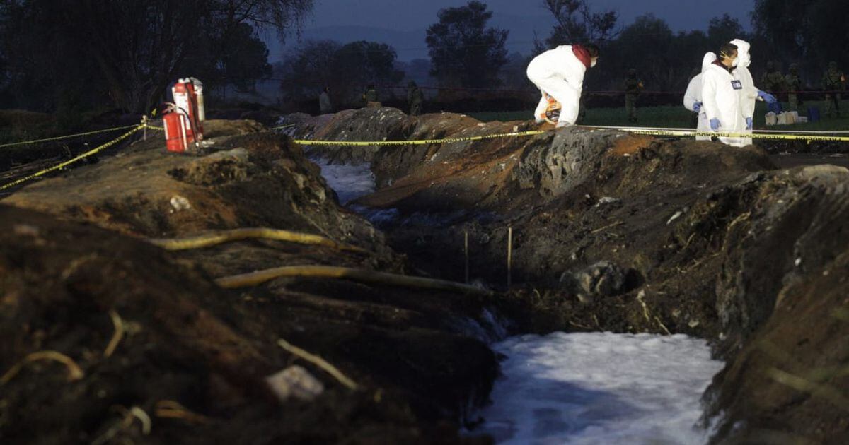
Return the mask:
<path fill-rule="evenodd" d="M 767 106 L 764 103 L 757 103 L 755 111 L 755 128 L 756 130 L 791 130 L 791 131 L 849 131 L 849 101 L 841 103 L 842 117 L 840 119 L 824 119 L 819 122 L 809 124 L 796 125 L 775 125 L 767 127 L 764 124 L 764 115 L 767 113 Z M 784 109 L 787 109 L 787 104 L 783 104 Z M 820 116 L 825 110 L 824 102 L 806 102 L 801 108 L 804 108 L 807 113 L 808 107 L 819 108 Z M 500 120 L 508 122 L 511 120 L 530 120 L 533 110 L 514 111 L 509 113 L 469 113 L 469 116 L 481 120 L 482 122 L 491 122 Z M 805 113 L 801 113 L 804 115 Z M 674 128 L 689 128 L 690 112 L 687 108 L 674 106 L 664 107 L 646 107 L 638 108 L 638 123 L 629 124 L 625 107 L 622 108 L 589 108 L 587 110 L 587 118 L 583 121 L 585 125 L 610 125 L 610 126 L 645 126 L 645 127 L 674 127 Z"/>

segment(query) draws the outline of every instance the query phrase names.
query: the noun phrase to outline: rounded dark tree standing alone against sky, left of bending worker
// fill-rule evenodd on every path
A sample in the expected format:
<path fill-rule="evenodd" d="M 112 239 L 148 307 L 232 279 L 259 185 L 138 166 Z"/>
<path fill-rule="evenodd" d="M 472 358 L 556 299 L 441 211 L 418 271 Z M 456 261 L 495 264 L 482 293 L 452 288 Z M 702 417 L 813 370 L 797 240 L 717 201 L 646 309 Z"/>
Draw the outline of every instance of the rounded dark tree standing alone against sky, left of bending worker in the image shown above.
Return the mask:
<path fill-rule="evenodd" d="M 443 86 L 498 86 L 498 71 L 507 62 L 509 31 L 487 28 L 492 12 L 486 4 L 469 2 L 464 7 L 441 9 L 439 22 L 427 30 L 430 75 Z"/>

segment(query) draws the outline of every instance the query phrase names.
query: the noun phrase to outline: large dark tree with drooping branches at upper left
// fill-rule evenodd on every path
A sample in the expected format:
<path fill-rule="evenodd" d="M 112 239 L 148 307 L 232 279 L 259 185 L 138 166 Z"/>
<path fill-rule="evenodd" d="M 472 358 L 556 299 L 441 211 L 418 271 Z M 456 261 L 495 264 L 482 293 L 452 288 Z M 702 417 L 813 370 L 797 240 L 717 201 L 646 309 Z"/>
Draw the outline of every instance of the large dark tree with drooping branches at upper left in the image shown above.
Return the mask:
<path fill-rule="evenodd" d="M 8 87 L 20 89 L 36 79 L 74 86 L 84 95 L 97 89 L 100 100 L 109 97 L 116 108 L 145 112 L 188 69 L 245 75 L 239 65 L 248 64 L 250 72 L 267 74 L 257 60 L 267 56 L 255 32 L 272 28 L 284 36 L 311 5 L 312 0 L 7 0 L 0 46 L 14 53 Z M 42 108 L 58 101 L 49 102 Z"/>

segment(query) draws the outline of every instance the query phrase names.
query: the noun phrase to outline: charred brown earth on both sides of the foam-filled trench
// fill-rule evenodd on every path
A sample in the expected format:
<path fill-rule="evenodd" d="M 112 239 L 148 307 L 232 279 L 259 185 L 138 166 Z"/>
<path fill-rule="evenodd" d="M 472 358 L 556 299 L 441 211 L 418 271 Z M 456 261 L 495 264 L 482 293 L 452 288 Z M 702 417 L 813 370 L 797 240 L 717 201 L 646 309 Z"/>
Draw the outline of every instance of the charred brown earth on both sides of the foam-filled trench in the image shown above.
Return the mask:
<path fill-rule="evenodd" d="M 392 108 L 289 121 L 290 136 L 348 141 L 536 129 Z M 0 387 L 0 437 L 42 431 L 42 442 L 91 442 L 117 425 L 116 437 L 144 442 L 138 421 L 121 424 L 124 411 L 110 408 L 155 414 L 157 402 L 174 400 L 199 417 L 154 416 L 148 442 L 475 441 L 457 426 L 475 420 L 497 374 L 485 343 L 498 331 L 492 310 L 515 333 L 707 338 L 728 361 L 706 395 L 707 414 L 722 414 L 716 442 L 845 442 L 849 170 L 781 170 L 758 147 L 548 130 L 304 153 L 256 123 L 212 121 L 202 156 L 141 142 L 16 192 L 3 203 L 40 213 L 0 210 L 0 369 L 52 349 L 85 375 L 67 382 L 59 364 L 26 365 Z M 398 217 L 375 227 L 342 209 L 306 155 L 371 163 L 378 191 L 353 208 Z M 250 226 L 363 250 L 255 240 L 166 253 L 144 242 Z M 291 278 L 225 291 L 213 282 L 301 264 L 462 281 L 467 234 L 471 278 L 503 295 Z M 132 335 L 104 358 L 110 312 Z M 278 338 L 322 355 L 363 390 L 349 392 Z M 323 395 L 272 397 L 265 377 L 290 364 L 318 377 Z"/>

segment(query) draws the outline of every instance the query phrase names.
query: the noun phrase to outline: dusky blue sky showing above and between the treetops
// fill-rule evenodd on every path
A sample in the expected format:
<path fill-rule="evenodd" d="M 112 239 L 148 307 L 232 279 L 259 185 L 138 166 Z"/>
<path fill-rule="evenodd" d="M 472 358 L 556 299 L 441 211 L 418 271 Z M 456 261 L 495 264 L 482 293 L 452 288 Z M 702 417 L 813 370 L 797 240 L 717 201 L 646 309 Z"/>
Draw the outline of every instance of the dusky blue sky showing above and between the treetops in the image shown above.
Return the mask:
<path fill-rule="evenodd" d="M 315 0 L 304 23 L 301 39 L 330 38 L 340 42 L 380 40 L 396 47 L 398 58 L 427 57 L 424 30 L 437 20 L 441 8 L 463 6 L 467 0 Z M 510 30 L 509 51 L 527 53 L 537 31 L 545 36 L 552 19 L 542 0 L 484 0 L 492 10 L 492 25 Z M 593 8 L 612 8 L 620 13 L 620 25 L 642 14 L 666 19 L 673 31 L 704 30 L 712 17 L 724 13 L 751 27 L 753 0 L 591 0 Z M 297 39 L 280 46 L 269 36 L 271 58 L 280 58 Z"/>

